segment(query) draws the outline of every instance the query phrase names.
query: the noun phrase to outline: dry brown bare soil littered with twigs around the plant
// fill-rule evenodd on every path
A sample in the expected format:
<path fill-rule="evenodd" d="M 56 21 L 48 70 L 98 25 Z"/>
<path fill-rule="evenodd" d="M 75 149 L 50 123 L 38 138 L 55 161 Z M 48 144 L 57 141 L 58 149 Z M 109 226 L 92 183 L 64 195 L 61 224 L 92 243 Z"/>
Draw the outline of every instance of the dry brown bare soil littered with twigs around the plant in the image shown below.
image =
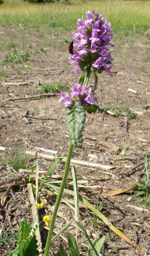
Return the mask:
<path fill-rule="evenodd" d="M 26 97 L 39 94 L 39 84 L 65 84 L 68 83 L 67 91 L 73 84 L 78 83 L 78 74 L 74 74 L 73 66 L 69 64 L 68 43 L 64 38 L 71 41 L 71 32 L 60 35 L 57 32 L 45 32 L 42 30 L 0 27 L 1 44 L 6 45 L 14 42 L 18 44 L 17 52 L 20 54 L 29 52 L 29 57 L 34 58 L 23 63 L 12 62 L 0 63 L 0 146 L 5 151 L 0 151 L 0 156 L 10 157 L 10 150 L 14 148 L 15 142 L 23 148 L 34 150 L 35 146 L 58 151 L 62 156 L 67 155 L 69 138 L 66 131 L 65 109 L 63 104 L 58 102 L 60 93 L 55 96 L 42 99 L 26 99 L 8 101 L 15 97 Z M 84 128 L 84 143 L 81 148 L 74 148 L 72 158 L 86 160 L 93 163 L 114 165 L 114 169 L 104 170 L 86 167 L 77 167 L 80 179 L 87 180 L 87 186 L 99 185 L 103 191 L 111 189 L 129 189 L 138 180 L 145 180 L 142 172 L 144 164 L 132 169 L 134 166 L 143 163 L 143 151 L 150 154 L 150 108 L 144 109 L 150 103 L 150 62 L 146 47 L 150 47 L 150 40 L 137 36 L 135 43 L 131 44 L 132 38 L 124 38 L 115 42 L 113 49 L 113 78 L 103 74 L 98 81 L 97 96 L 99 105 L 111 106 L 111 111 L 116 112 L 117 107 L 130 108 L 137 111 L 135 119 L 129 119 L 127 112 L 120 117 L 106 114 L 88 114 Z M 13 49 L 1 49 L 1 61 L 6 59 L 6 54 L 13 53 Z M 150 53 L 149 53 L 150 55 Z M 42 61 L 37 61 L 39 59 Z M 34 80 L 35 79 L 35 80 Z M 25 85 L 8 85 L 5 82 L 27 82 Z M 91 79 L 90 85 L 93 85 Z M 133 92 L 132 89 L 136 92 Z M 27 110 L 35 110 L 34 116 L 51 117 L 53 120 L 25 119 Z M 128 125 L 127 125 L 128 121 Z M 112 151 L 98 143 L 109 143 L 123 149 L 128 143 L 129 147 L 125 154 L 118 158 Z M 47 171 L 52 165 L 46 160 L 39 161 L 40 170 Z M 63 174 L 64 166 L 57 166 L 53 174 Z M 10 177 L 18 176 L 9 163 L 0 169 L 0 181 L 8 180 Z M 71 177 L 71 174 L 70 174 Z M 1 198 L 13 183 L 6 183 L 0 186 Z M 17 184 L 17 186 L 16 186 Z M 5 232 L 11 237 L 11 230 L 18 230 L 20 221 L 26 218 L 32 222 L 31 205 L 29 202 L 26 180 L 18 181 L 12 186 L 5 201 L 1 201 L 1 235 Z M 142 207 L 144 204 L 135 203 L 139 199 L 134 191 L 114 196 L 102 196 L 101 193 L 89 192 L 79 188 L 81 195 L 85 196 L 95 207 L 104 201 L 102 213 L 110 222 L 126 234 L 131 240 L 135 240 L 134 231 L 137 231 L 139 247 L 145 250 L 145 255 L 150 255 L 150 212 L 141 212 L 131 206 Z M 48 194 L 44 189 L 49 204 L 54 205 L 55 197 Z M 67 195 L 65 195 L 66 197 Z M 89 231 L 90 239 L 94 239 L 98 233 L 106 236 L 109 245 L 119 246 L 125 244 L 117 235 L 109 230 L 102 221 L 94 227 L 86 211 L 80 209 L 80 223 Z M 61 204 L 60 212 L 68 219 L 74 218 L 74 212 L 66 204 Z M 41 211 L 40 218 L 44 214 L 52 214 L 46 207 Z M 91 213 L 92 214 L 92 213 Z M 63 218 L 58 217 L 55 231 L 66 225 Z M 141 231 L 141 228 L 143 230 Z M 41 236 L 43 245 L 46 241 L 44 225 L 41 224 Z M 68 230 L 63 233 L 66 237 Z M 73 230 L 69 228 L 73 235 Z M 79 231 L 78 242 L 87 243 L 83 233 Z M 67 248 L 63 238 L 52 243 L 56 251 L 62 243 Z M 13 249 L 15 244 L 2 244 L 0 256 L 6 255 Z M 67 250 L 67 249 L 66 249 Z M 85 247 L 81 247 L 85 255 Z M 104 248 L 103 253 L 116 256 L 138 256 L 140 253 L 132 249 L 111 250 Z"/>

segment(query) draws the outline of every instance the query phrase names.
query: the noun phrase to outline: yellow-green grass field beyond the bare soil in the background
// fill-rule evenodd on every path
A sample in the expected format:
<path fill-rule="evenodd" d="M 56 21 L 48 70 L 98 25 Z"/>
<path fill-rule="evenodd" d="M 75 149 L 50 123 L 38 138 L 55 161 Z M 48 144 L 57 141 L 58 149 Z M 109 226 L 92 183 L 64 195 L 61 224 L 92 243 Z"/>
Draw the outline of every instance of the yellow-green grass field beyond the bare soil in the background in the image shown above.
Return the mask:
<path fill-rule="evenodd" d="M 98 9 L 112 23 L 113 32 L 145 33 L 149 35 L 149 0 L 69 0 L 56 3 L 28 3 L 22 0 L 5 0 L 0 5 L 1 26 L 49 27 L 75 30 L 77 19 L 91 9 Z"/>

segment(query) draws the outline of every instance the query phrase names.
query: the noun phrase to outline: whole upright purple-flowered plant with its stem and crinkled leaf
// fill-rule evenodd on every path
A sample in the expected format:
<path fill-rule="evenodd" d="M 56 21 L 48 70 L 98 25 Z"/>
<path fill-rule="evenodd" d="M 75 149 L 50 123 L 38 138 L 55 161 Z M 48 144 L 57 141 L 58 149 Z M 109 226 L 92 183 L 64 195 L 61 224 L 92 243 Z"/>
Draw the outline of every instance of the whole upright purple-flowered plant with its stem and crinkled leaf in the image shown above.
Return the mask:
<path fill-rule="evenodd" d="M 94 97 L 95 89 L 98 83 L 98 77 L 96 72 L 101 73 L 106 71 L 110 73 L 110 76 L 113 76 L 110 71 L 112 65 L 111 61 L 111 52 L 108 52 L 107 46 L 114 46 L 114 44 L 109 43 L 113 34 L 111 34 L 110 22 L 103 21 L 103 15 L 98 11 L 92 10 L 92 12 L 87 12 L 87 20 L 84 21 L 78 19 L 78 33 L 73 34 L 73 40 L 69 45 L 69 57 L 72 59 L 70 62 L 77 64 L 75 66 L 75 73 L 78 71 L 82 72 L 82 75 L 79 79 L 79 83 L 73 85 L 72 93 L 61 92 L 61 98 L 59 102 L 64 102 L 66 107 L 66 123 L 67 131 L 69 132 L 70 145 L 68 150 L 68 155 L 66 158 L 66 166 L 63 174 L 63 179 L 61 182 L 60 190 L 58 197 L 55 202 L 55 208 L 52 214 L 52 219 L 50 222 L 49 233 L 46 241 L 46 247 L 44 251 L 44 256 L 48 256 L 50 242 L 52 239 L 52 233 L 55 224 L 55 218 L 57 215 L 58 207 L 61 202 L 63 195 L 63 190 L 68 178 L 69 166 L 72 157 L 73 146 L 82 147 L 83 143 L 83 134 L 84 122 L 86 118 L 85 111 L 88 113 L 104 112 L 109 108 L 98 107 L 95 103 L 98 102 L 98 97 Z M 73 47 L 77 47 L 77 50 L 74 50 Z M 95 86 L 88 90 L 88 82 L 91 73 L 94 74 Z"/>

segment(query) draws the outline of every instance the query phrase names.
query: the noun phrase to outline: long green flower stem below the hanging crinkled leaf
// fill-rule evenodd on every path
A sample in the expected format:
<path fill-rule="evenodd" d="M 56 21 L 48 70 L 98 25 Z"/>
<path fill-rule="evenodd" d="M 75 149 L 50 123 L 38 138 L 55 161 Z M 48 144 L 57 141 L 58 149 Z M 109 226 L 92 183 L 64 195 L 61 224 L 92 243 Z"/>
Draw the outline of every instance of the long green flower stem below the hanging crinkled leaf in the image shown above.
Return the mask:
<path fill-rule="evenodd" d="M 58 197 L 56 199 L 54 211 L 53 211 L 53 214 L 52 214 L 51 223 L 50 223 L 50 226 L 49 226 L 49 233 L 48 233 L 48 236 L 47 236 L 44 256 L 48 256 L 48 254 L 49 254 L 49 247 L 50 247 L 50 243 L 51 243 L 51 239 L 52 239 L 52 233 L 53 233 L 53 229 L 54 229 L 54 225 L 55 225 L 55 218 L 56 218 L 56 215 L 57 215 L 57 212 L 58 212 L 58 207 L 59 207 L 60 202 L 61 202 L 61 198 L 62 198 L 62 195 L 63 195 L 63 190 L 65 188 L 66 181 L 67 181 L 67 178 L 68 178 L 70 160 L 71 160 L 71 157 L 72 157 L 72 150 L 73 150 L 73 145 L 72 145 L 72 140 L 70 140 L 68 155 L 67 155 L 67 159 L 66 159 L 66 166 L 65 166 L 65 170 L 64 170 L 60 190 L 59 190 L 59 193 L 58 193 Z"/>

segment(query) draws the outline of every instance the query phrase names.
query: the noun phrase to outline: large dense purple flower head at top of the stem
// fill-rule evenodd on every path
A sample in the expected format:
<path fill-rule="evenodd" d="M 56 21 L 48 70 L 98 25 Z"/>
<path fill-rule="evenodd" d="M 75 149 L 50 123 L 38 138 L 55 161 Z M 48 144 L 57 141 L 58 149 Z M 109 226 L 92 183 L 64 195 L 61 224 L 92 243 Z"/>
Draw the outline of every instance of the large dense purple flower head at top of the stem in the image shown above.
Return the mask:
<path fill-rule="evenodd" d="M 108 52 L 108 45 L 115 46 L 109 43 L 113 37 L 111 34 L 111 23 L 103 21 L 103 15 L 98 11 L 92 10 L 87 12 L 87 20 L 82 17 L 78 19 L 78 33 L 72 33 L 74 46 L 78 47 L 78 51 L 74 51 L 73 55 L 69 55 L 72 59 L 70 64 L 75 63 L 75 73 L 87 71 L 90 67 L 92 72 L 101 73 L 106 71 L 113 76 L 110 71 L 112 65 L 111 52 Z"/>

